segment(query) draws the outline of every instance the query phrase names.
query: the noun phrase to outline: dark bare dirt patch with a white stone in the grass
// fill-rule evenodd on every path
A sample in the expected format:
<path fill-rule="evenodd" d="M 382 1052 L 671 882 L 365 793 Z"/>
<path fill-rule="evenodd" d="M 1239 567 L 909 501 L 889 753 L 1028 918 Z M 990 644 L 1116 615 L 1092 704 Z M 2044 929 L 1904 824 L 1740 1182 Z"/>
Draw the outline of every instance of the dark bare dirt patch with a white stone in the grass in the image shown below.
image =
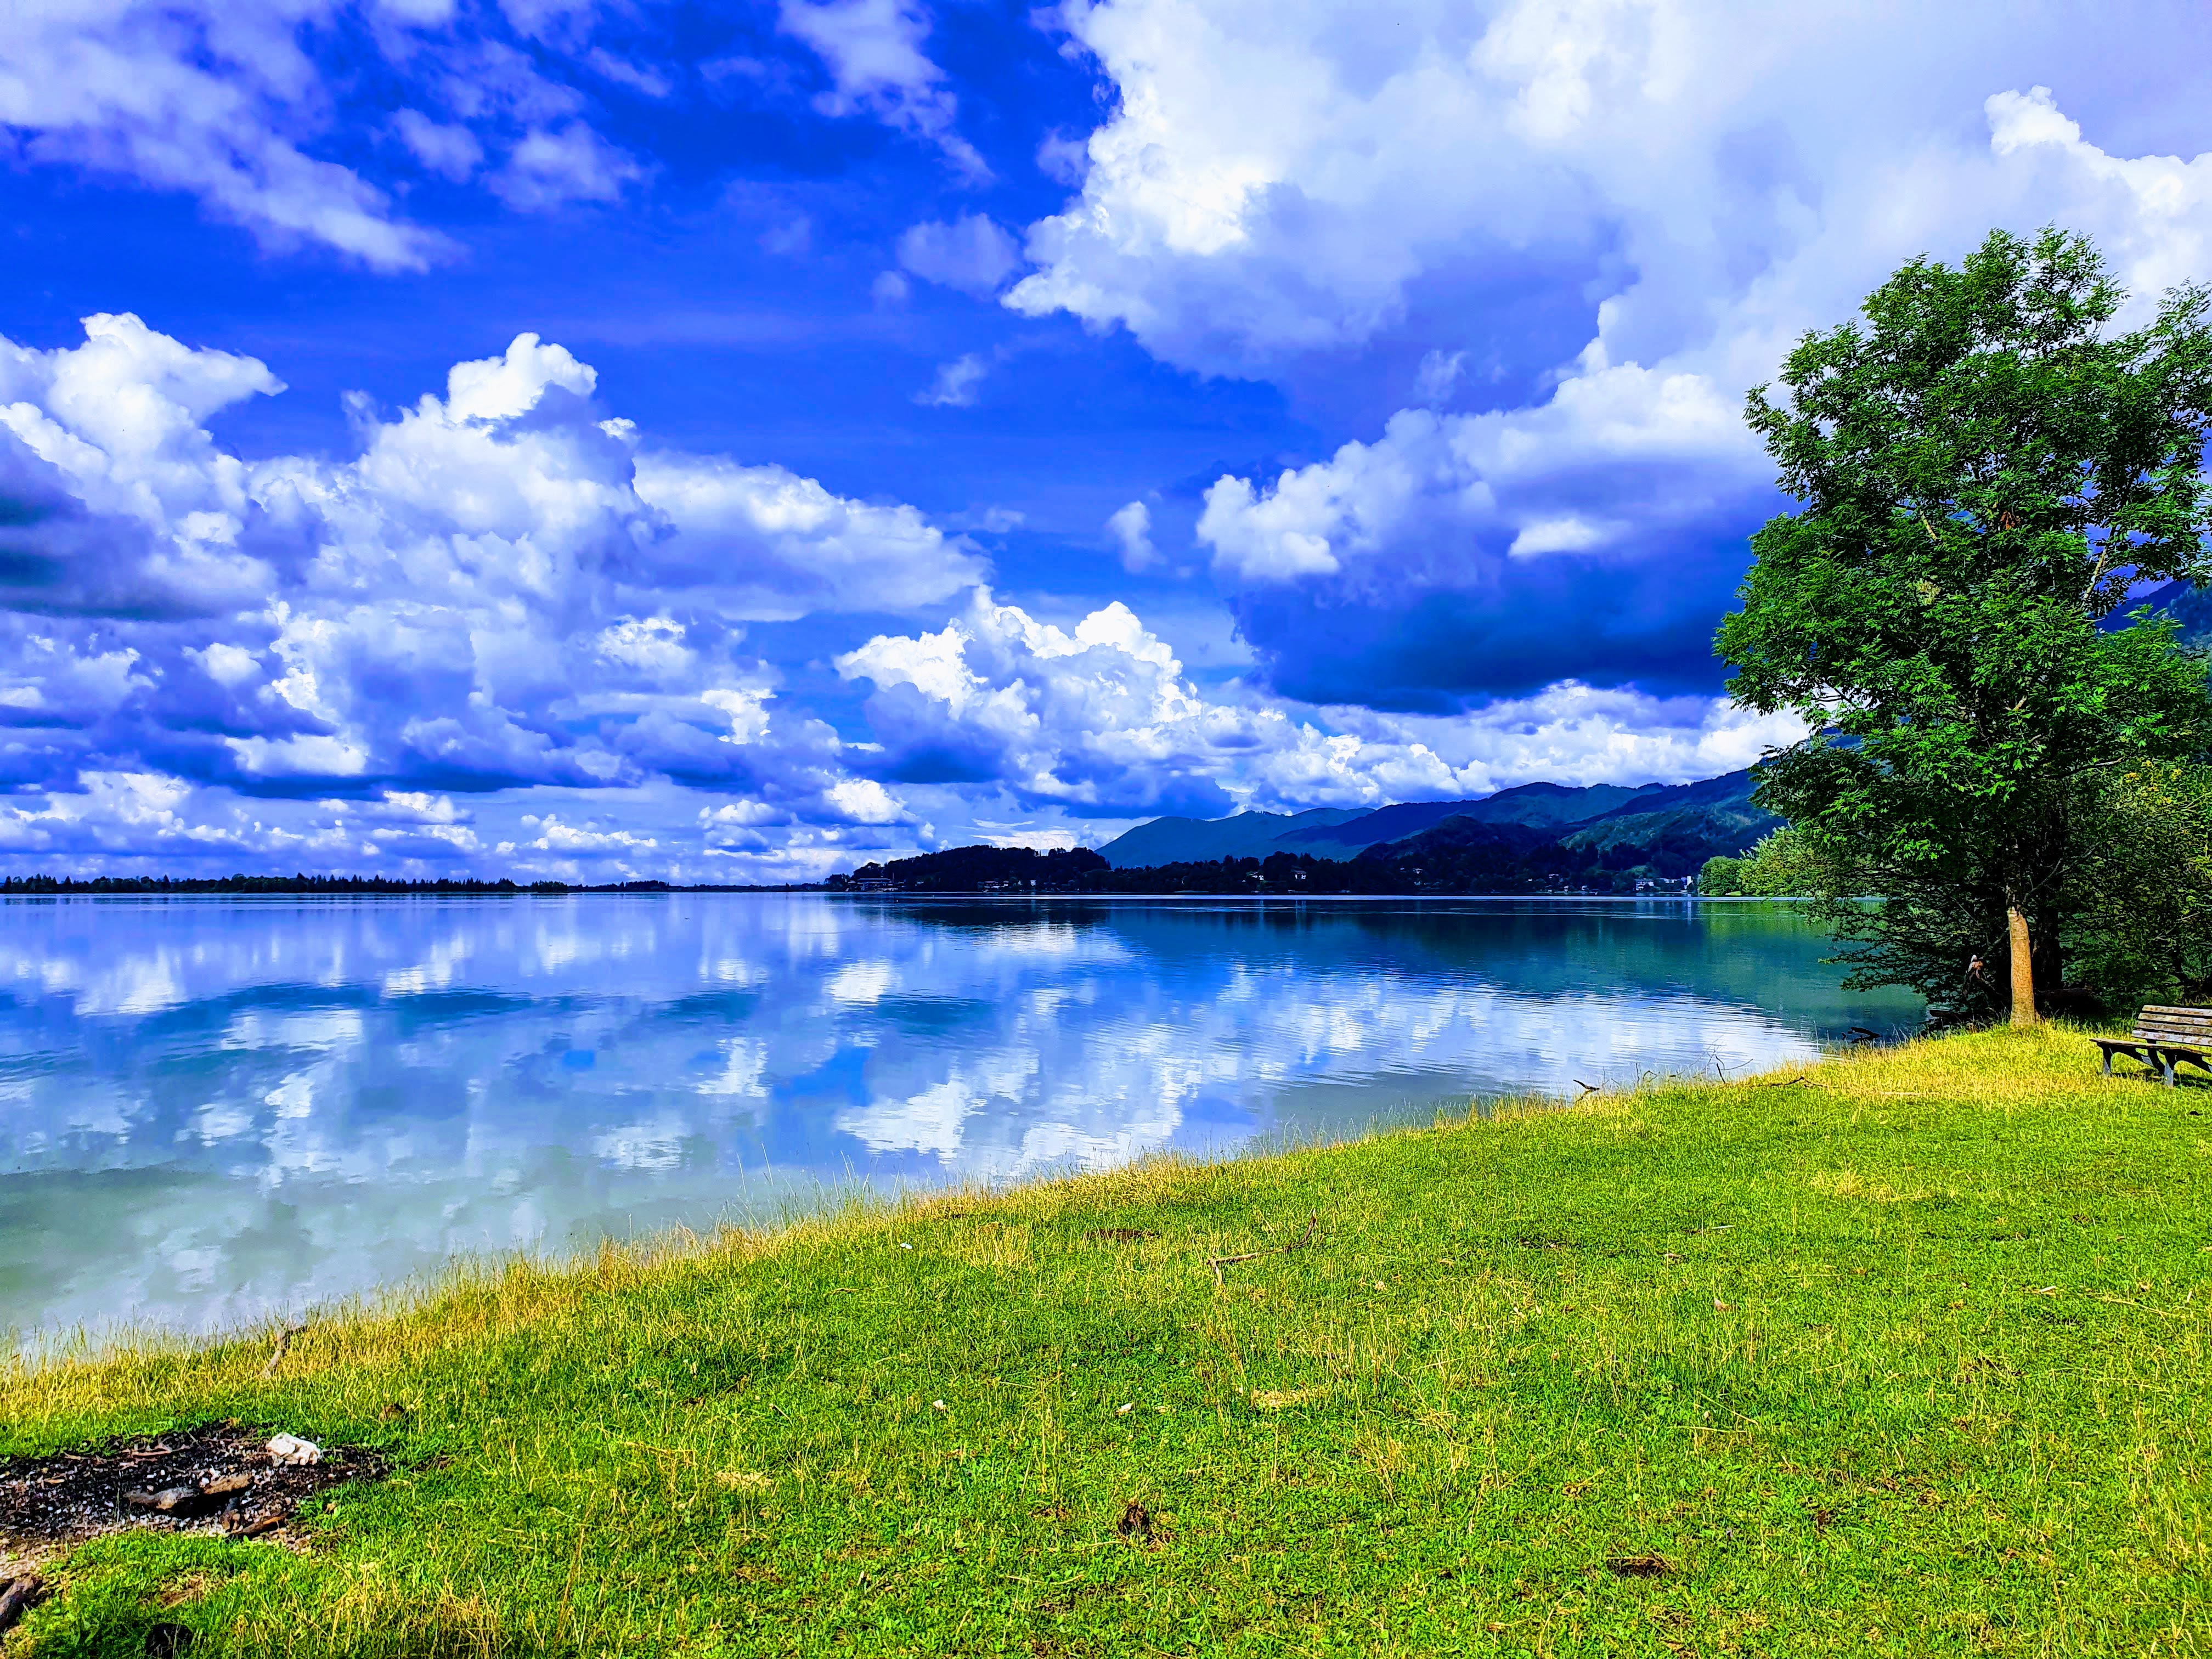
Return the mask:
<path fill-rule="evenodd" d="M 268 1444 L 268 1429 L 215 1422 L 93 1451 L 0 1458 L 0 1546 L 66 1544 L 122 1526 L 259 1537 L 290 1522 L 301 1500 L 392 1469 L 365 1447 L 279 1462 Z"/>

